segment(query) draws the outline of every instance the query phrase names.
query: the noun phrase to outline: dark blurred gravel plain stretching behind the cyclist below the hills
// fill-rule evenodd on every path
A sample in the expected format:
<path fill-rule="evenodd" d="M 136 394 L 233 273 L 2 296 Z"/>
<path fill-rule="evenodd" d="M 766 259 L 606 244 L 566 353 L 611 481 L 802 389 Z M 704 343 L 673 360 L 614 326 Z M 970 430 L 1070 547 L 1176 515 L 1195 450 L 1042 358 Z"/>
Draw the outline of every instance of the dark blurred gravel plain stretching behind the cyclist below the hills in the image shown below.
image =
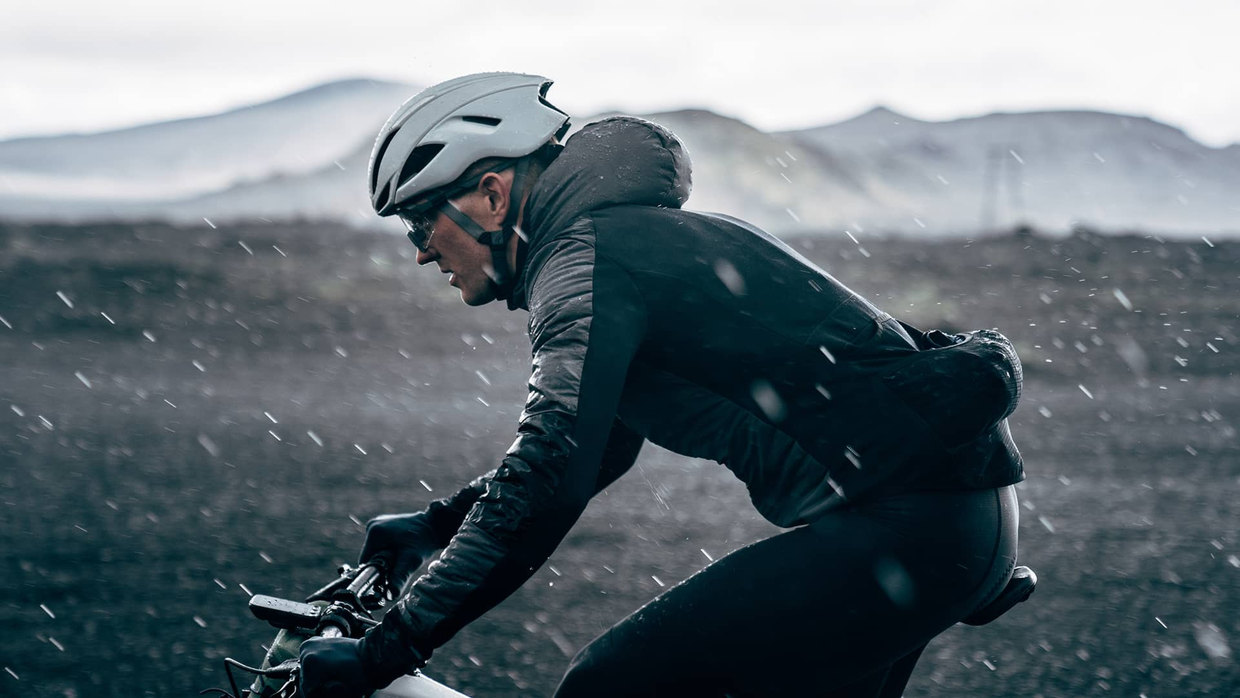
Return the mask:
<path fill-rule="evenodd" d="M 1238 696 L 1240 243 L 1152 234 L 790 241 L 923 327 L 998 327 L 1025 394 L 1033 600 L 936 640 L 906 696 Z M 0 224 L 0 696 L 192 696 L 362 526 L 492 467 L 526 315 L 461 305 L 396 236 L 327 223 Z M 546 696 L 642 603 L 775 531 L 647 446 L 551 563 L 436 652 Z M 744 661 L 744 657 L 738 657 Z"/>

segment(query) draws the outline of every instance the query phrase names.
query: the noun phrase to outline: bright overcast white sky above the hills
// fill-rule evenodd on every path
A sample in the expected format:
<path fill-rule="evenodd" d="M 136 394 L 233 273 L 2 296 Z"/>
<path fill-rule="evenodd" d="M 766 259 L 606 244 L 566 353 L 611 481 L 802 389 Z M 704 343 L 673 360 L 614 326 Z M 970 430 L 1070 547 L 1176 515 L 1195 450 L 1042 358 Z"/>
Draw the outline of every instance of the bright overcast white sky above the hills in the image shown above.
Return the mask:
<path fill-rule="evenodd" d="M 467 7 L 467 9 L 466 9 Z M 1240 141 L 1240 0 L 12 2 L 0 139 L 212 113 L 342 77 L 508 69 L 562 108 L 791 129 L 1100 109 Z"/>

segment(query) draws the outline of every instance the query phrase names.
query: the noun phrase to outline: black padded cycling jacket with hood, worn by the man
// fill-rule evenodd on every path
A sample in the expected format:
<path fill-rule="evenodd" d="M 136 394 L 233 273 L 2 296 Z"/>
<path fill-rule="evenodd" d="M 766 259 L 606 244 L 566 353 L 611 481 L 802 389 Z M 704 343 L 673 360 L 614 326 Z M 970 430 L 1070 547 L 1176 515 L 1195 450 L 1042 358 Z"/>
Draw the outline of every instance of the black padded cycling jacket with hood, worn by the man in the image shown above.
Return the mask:
<path fill-rule="evenodd" d="M 680 141 L 624 117 L 585 126 L 536 182 L 508 299 L 533 346 L 517 438 L 430 506 L 446 549 L 363 643 L 374 666 L 408 668 L 515 591 L 644 439 L 724 464 L 785 527 L 880 491 L 1023 479 L 1002 420 L 1018 368 L 997 410 L 956 429 L 982 387 L 924 371 L 937 355 L 920 332 L 779 239 L 680 210 L 688 191 Z"/>

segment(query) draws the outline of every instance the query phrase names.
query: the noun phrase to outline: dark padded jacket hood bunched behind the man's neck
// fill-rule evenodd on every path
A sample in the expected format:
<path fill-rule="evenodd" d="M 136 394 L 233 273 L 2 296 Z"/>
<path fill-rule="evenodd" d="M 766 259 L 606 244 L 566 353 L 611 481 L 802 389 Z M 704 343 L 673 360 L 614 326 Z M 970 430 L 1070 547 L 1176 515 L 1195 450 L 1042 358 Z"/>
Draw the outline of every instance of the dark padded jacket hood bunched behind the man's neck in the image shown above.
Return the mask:
<path fill-rule="evenodd" d="M 529 192 L 522 226 L 526 260 L 590 211 L 620 205 L 680 208 L 689 197 L 691 169 L 684 145 L 658 124 L 636 117 L 587 124 Z M 525 305 L 528 267 L 521 269 L 510 307 Z"/>

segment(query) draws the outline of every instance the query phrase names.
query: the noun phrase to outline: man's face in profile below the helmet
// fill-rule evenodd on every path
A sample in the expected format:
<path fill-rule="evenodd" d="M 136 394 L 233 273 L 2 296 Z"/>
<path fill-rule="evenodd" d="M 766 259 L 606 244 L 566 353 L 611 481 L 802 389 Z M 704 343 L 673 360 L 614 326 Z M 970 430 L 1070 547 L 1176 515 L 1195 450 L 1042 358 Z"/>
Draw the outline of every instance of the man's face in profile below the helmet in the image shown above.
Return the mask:
<path fill-rule="evenodd" d="M 463 213 L 490 231 L 494 228 L 485 202 L 486 197 L 476 191 L 453 201 Z M 495 300 L 491 248 L 471 238 L 441 211 L 435 214 L 432 226 L 434 233 L 427 249 L 418 250 L 418 264 L 434 262 L 440 272 L 451 274 L 448 283 L 461 291 L 465 305 L 485 305 Z"/>

